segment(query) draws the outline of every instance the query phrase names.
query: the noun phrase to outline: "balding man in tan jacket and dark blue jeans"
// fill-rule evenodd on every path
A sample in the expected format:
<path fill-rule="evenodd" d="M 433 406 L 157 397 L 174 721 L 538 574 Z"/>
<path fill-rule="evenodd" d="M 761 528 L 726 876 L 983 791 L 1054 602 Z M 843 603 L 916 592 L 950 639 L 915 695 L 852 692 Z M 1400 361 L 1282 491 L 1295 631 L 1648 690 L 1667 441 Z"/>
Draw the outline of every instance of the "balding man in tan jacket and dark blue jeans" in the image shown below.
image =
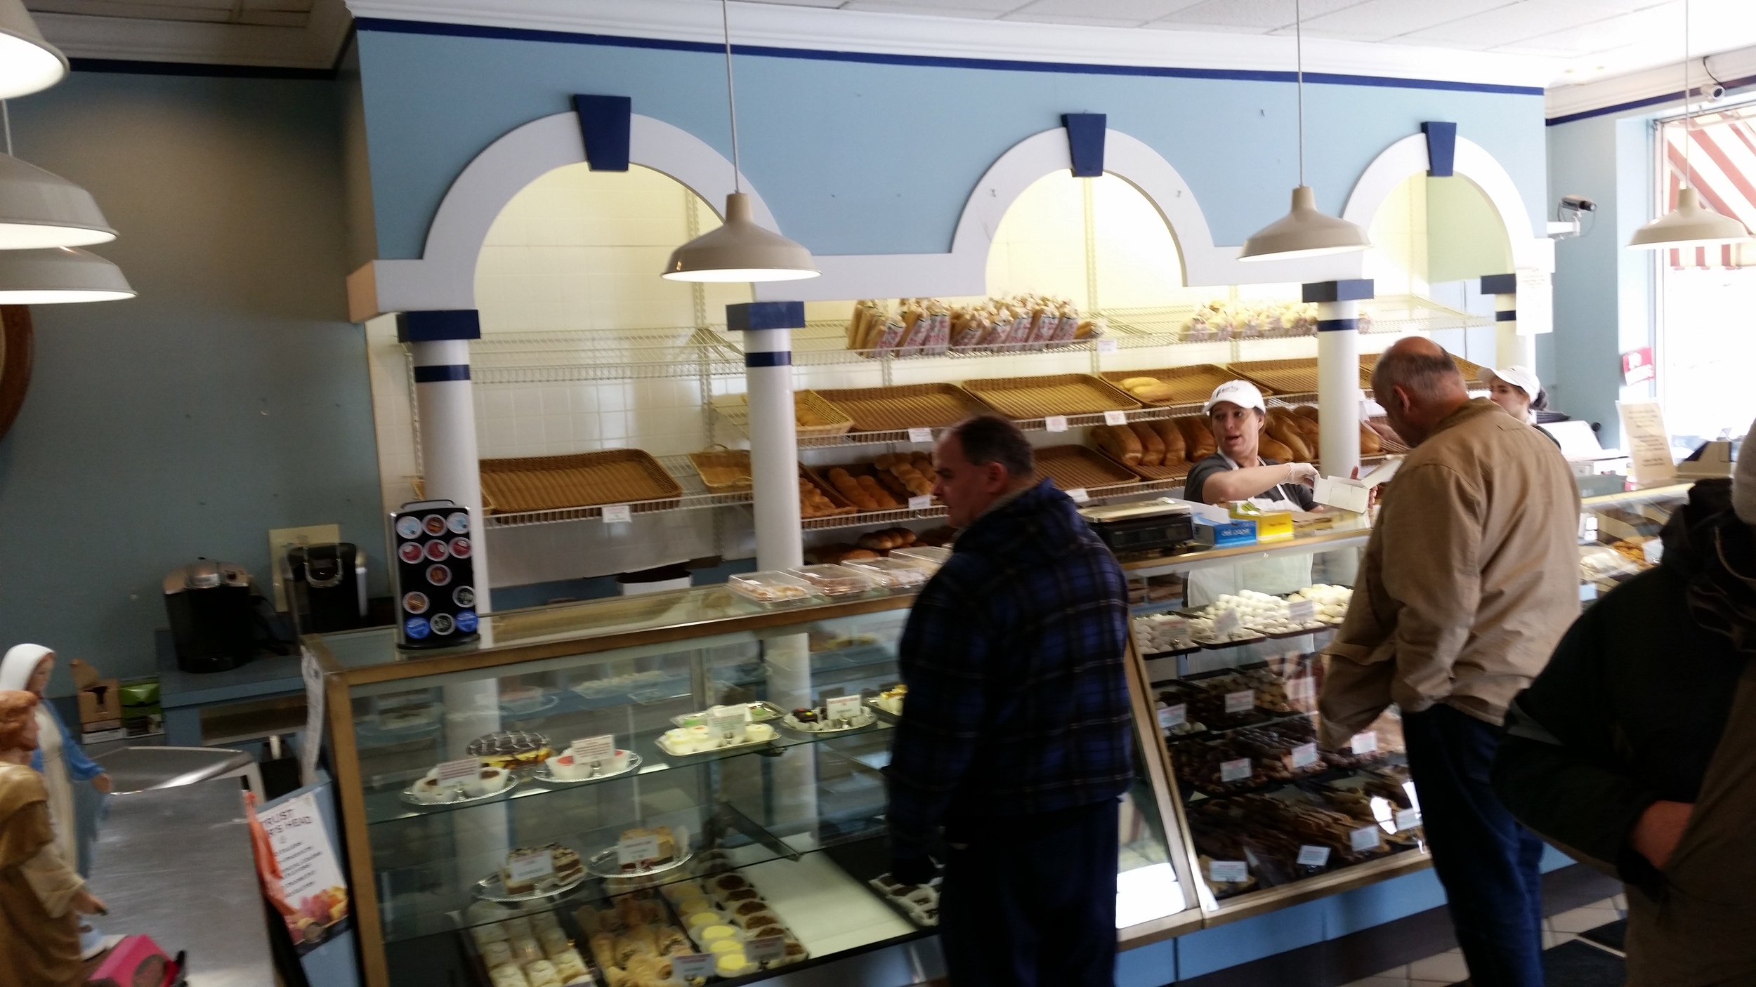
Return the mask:
<path fill-rule="evenodd" d="M 1385 349 L 1371 390 L 1414 446 L 1387 485 L 1354 602 L 1324 648 L 1322 739 L 1403 713 L 1433 869 L 1470 980 L 1542 985 L 1542 841 L 1487 771 L 1507 704 L 1579 616 L 1579 488 L 1556 444 L 1470 400 L 1429 339 Z"/>

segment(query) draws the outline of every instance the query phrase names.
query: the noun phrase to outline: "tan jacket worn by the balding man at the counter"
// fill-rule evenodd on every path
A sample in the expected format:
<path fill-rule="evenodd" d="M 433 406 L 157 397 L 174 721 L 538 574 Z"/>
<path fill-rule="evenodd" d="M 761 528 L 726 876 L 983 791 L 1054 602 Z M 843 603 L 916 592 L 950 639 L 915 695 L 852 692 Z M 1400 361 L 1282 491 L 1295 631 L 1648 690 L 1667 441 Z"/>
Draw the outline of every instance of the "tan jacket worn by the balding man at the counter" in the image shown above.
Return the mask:
<path fill-rule="evenodd" d="M 1498 725 L 1579 616 L 1577 530 L 1579 486 L 1536 429 L 1487 399 L 1440 421 L 1389 481 L 1322 650 L 1324 743 L 1391 702 Z"/>

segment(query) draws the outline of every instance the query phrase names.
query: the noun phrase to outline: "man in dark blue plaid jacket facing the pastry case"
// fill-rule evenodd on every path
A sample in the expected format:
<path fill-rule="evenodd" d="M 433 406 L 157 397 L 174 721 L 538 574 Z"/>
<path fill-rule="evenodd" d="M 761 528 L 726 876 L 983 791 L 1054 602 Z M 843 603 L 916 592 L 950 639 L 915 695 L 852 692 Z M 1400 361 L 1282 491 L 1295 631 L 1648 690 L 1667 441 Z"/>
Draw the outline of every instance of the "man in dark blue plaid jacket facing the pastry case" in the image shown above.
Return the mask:
<path fill-rule="evenodd" d="M 941 855 L 954 987 L 1110 987 L 1117 801 L 1134 766 L 1122 567 L 1066 494 L 1033 481 L 1010 421 L 955 425 L 934 467 L 961 532 L 899 648 L 892 875 L 922 883 L 929 848 Z"/>

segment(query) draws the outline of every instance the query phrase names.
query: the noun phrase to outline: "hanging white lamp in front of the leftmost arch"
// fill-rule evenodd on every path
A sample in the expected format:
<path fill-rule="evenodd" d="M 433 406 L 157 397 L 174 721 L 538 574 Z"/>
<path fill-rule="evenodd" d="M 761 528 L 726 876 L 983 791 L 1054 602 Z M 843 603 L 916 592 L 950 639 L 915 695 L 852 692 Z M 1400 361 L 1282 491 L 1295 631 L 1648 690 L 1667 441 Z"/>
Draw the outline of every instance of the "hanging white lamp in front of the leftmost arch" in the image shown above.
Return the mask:
<path fill-rule="evenodd" d="M 662 277 L 671 281 L 799 281 L 822 270 L 811 251 L 750 220 L 738 169 L 738 98 L 732 93 L 732 23 L 720 0 L 725 32 L 725 105 L 732 118 L 732 191 L 725 197 L 725 223 L 671 251 Z"/>

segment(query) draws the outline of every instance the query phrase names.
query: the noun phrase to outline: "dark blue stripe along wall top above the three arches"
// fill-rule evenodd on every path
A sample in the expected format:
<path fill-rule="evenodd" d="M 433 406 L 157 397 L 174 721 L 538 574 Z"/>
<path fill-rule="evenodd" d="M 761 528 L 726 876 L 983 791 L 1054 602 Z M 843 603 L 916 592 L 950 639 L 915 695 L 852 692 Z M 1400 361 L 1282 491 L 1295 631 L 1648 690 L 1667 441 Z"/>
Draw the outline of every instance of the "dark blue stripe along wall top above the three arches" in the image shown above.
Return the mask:
<path fill-rule="evenodd" d="M 393 21 L 388 18 L 355 18 L 355 30 L 404 33 L 404 35 L 446 35 L 446 37 L 492 37 L 502 40 L 546 40 L 557 44 L 592 44 L 604 47 L 655 47 L 662 51 L 702 51 L 720 54 L 725 46 L 699 40 L 664 40 L 646 37 L 616 37 L 574 32 L 541 32 L 530 28 L 490 28 L 478 25 L 439 25 L 430 21 Z M 932 54 L 878 54 L 867 51 L 817 51 L 810 47 L 766 47 L 757 44 L 734 44 L 734 54 L 755 54 L 767 58 L 799 58 L 806 61 L 864 61 L 871 65 L 920 65 L 934 68 L 985 68 L 990 72 L 1062 72 L 1082 76 L 1157 76 L 1166 79 L 1241 79 L 1250 83 L 1292 83 L 1294 72 L 1257 72 L 1245 68 L 1164 68 L 1154 65 L 1087 65 L 1075 61 L 1020 61 L 1010 58 L 941 58 Z M 1540 97 L 1540 86 L 1501 86 L 1494 83 L 1452 83 L 1449 79 L 1393 79 L 1387 76 L 1342 76 L 1329 72 L 1306 72 L 1306 83 L 1331 86 L 1382 86 L 1389 90 L 1450 90 L 1463 93 L 1505 93 L 1515 97 Z"/>

